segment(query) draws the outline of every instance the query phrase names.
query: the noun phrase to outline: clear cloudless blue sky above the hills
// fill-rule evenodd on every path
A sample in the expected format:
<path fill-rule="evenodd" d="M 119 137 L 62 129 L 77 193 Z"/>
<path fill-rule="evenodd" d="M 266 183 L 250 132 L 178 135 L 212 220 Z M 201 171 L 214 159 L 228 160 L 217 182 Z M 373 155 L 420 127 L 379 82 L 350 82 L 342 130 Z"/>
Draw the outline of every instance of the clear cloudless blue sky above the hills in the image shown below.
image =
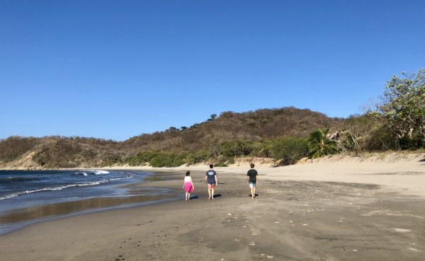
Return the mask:
<path fill-rule="evenodd" d="M 124 140 L 212 113 L 347 117 L 425 66 L 424 1 L 0 1 L 0 139 Z"/>

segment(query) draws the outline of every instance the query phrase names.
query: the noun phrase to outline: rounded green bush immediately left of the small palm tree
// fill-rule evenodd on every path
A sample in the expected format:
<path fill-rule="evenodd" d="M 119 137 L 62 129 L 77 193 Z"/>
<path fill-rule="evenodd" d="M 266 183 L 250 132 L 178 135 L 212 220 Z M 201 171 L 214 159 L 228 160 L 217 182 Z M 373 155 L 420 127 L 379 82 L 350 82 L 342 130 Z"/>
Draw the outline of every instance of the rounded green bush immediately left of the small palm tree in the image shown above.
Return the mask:
<path fill-rule="evenodd" d="M 282 165 L 296 163 L 307 156 L 308 146 L 305 139 L 295 137 L 280 137 L 271 144 L 271 154 L 274 161 L 280 161 Z"/>

